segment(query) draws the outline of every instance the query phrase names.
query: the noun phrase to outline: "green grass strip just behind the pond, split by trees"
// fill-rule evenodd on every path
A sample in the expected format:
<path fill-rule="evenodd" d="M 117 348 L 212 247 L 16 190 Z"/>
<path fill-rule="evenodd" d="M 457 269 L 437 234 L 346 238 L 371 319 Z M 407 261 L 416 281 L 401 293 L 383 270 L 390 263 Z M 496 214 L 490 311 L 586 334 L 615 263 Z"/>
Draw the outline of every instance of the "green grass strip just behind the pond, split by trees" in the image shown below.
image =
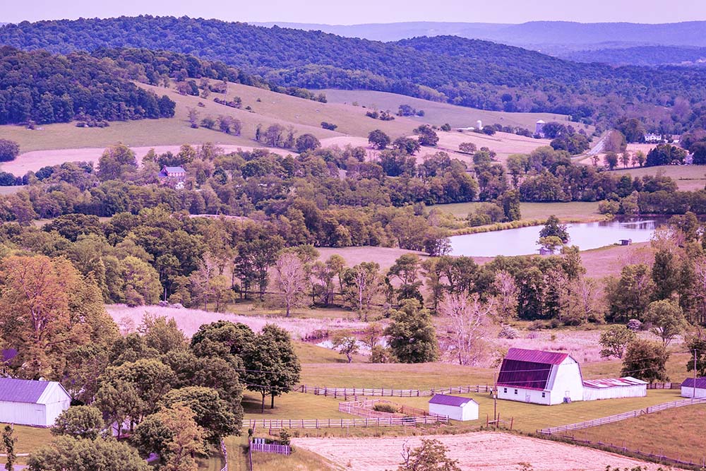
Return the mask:
<path fill-rule="evenodd" d="M 457 217 L 466 217 L 474 213 L 479 203 L 450 203 L 429 206 L 444 213 L 451 213 Z M 590 222 L 604 220 L 598 213 L 597 202 L 573 201 L 571 203 L 520 203 L 522 220 L 546 219 L 556 215 L 562 222 Z"/>

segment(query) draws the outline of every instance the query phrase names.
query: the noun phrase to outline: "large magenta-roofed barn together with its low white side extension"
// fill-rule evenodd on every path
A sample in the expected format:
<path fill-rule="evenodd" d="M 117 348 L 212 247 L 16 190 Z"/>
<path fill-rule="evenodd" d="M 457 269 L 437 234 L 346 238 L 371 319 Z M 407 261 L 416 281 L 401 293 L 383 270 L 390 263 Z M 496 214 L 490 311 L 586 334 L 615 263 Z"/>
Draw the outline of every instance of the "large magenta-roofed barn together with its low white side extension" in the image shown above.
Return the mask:
<path fill-rule="evenodd" d="M 629 376 L 584 381 L 568 353 L 522 348 L 510 348 L 503 359 L 497 388 L 499 399 L 543 405 L 647 395 L 645 381 Z"/>

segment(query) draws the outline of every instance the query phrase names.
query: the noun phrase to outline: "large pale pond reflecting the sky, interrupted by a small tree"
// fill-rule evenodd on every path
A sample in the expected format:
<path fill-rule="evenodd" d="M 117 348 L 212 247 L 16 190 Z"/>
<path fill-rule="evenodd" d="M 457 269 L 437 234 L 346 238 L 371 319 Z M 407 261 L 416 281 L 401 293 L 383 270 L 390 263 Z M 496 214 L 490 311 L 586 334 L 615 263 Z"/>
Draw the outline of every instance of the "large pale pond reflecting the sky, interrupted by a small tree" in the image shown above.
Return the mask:
<path fill-rule="evenodd" d="M 569 224 L 569 245 L 581 250 L 598 249 L 633 239 L 633 243 L 648 242 L 662 220 L 633 219 Z M 451 254 L 479 257 L 537 254 L 539 231 L 542 226 L 520 227 L 494 232 L 481 232 L 451 237 Z"/>

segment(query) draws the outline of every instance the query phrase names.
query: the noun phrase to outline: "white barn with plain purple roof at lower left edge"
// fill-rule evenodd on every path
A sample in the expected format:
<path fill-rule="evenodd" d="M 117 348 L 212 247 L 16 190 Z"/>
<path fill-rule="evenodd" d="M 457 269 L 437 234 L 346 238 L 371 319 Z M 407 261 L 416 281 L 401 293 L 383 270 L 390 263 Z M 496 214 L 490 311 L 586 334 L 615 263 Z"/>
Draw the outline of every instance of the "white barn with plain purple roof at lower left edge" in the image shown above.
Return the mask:
<path fill-rule="evenodd" d="M 52 427 L 71 406 L 71 396 L 55 381 L 0 378 L 0 422 Z"/>

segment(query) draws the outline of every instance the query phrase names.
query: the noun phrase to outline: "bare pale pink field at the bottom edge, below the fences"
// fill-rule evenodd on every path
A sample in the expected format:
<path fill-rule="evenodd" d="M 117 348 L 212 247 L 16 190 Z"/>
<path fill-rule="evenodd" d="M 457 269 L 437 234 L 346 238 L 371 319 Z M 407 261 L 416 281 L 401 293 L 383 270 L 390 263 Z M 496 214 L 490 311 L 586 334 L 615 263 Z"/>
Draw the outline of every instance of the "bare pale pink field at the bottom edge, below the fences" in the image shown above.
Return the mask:
<path fill-rule="evenodd" d="M 621 469 L 642 465 L 648 471 L 658 468 L 592 448 L 496 432 L 378 439 L 292 439 L 292 445 L 318 453 L 347 470 L 385 471 L 397 468 L 405 443 L 415 448 L 422 438 L 442 441 L 449 448 L 450 458 L 458 460 L 463 471 L 521 470 L 519 463 L 530 463 L 534 471 L 604 471 L 607 465 Z"/>

